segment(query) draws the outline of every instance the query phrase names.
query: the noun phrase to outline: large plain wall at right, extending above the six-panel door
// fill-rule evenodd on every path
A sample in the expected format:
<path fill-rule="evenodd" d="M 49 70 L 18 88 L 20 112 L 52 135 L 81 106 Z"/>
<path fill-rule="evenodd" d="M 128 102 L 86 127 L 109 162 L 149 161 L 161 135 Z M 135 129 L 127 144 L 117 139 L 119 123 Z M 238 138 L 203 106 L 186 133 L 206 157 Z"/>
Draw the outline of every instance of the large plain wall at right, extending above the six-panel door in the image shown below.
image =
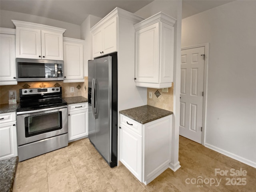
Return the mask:
<path fill-rule="evenodd" d="M 182 20 L 182 47 L 209 42 L 205 146 L 256 167 L 256 1 Z"/>

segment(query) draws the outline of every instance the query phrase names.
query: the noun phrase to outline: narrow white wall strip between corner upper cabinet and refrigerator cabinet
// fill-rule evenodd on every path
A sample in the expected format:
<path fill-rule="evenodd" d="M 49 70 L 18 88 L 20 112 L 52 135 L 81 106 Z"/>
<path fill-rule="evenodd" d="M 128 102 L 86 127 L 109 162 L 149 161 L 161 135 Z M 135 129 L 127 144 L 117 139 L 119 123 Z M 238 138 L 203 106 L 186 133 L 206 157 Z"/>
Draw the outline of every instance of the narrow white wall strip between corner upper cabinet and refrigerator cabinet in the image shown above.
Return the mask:
<path fill-rule="evenodd" d="M 90 28 L 99 22 L 102 18 L 89 15 L 80 26 L 81 39 L 85 40 L 85 64 L 84 76 L 88 76 L 88 60 L 92 60 L 92 36 Z"/>

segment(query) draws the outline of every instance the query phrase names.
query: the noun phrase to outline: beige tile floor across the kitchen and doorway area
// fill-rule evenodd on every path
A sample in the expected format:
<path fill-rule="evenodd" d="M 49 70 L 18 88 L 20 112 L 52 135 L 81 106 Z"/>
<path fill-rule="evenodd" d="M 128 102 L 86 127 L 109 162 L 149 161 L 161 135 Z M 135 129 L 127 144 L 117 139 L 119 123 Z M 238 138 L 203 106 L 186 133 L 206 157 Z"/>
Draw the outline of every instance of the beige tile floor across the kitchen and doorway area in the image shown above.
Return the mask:
<path fill-rule="evenodd" d="M 228 158 L 180 136 L 181 168 L 168 169 L 145 186 L 125 166 L 110 168 L 90 144 L 88 138 L 67 147 L 25 160 L 18 164 L 14 192 L 255 192 L 256 169 Z M 214 169 L 228 170 L 227 176 L 216 175 Z M 246 170 L 246 176 L 235 176 L 230 169 Z M 192 184 L 203 178 L 205 183 Z M 226 185 L 228 180 L 245 185 Z M 212 179 L 220 181 L 207 183 Z M 187 182 L 186 182 L 187 181 Z M 191 183 L 190 183 L 191 181 Z M 231 183 L 230 183 L 231 184 Z M 241 182 L 242 184 L 242 182 Z"/>

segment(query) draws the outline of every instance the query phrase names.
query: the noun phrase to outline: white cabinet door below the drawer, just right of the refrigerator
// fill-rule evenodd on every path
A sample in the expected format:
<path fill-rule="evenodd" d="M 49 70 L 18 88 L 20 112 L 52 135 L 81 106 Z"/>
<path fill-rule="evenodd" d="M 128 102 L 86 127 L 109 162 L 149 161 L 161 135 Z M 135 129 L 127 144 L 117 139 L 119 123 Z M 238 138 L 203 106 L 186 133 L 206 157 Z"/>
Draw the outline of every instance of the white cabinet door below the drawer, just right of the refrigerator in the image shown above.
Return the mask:
<path fill-rule="evenodd" d="M 142 136 L 120 124 L 120 161 L 142 182 Z"/>

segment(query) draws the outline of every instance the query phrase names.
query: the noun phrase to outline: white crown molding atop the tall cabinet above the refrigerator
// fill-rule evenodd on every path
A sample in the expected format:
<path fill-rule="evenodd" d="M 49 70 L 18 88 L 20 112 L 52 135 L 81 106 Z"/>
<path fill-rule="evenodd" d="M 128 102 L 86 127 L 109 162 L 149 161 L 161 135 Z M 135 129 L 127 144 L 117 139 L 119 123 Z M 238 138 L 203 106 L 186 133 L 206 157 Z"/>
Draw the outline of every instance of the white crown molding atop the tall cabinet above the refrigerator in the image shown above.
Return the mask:
<path fill-rule="evenodd" d="M 142 20 L 144 20 L 144 18 L 137 16 L 131 12 L 128 12 L 126 10 L 123 10 L 119 7 L 114 8 L 114 10 L 112 10 L 109 14 L 107 14 L 102 20 L 100 20 L 96 25 L 94 25 L 90 31 L 93 32 L 95 30 L 97 30 L 98 28 L 100 28 L 101 26 L 103 26 L 108 20 L 114 18 L 115 16 L 118 17 L 123 17 L 129 20 L 132 20 L 134 22 L 141 22 Z"/>

